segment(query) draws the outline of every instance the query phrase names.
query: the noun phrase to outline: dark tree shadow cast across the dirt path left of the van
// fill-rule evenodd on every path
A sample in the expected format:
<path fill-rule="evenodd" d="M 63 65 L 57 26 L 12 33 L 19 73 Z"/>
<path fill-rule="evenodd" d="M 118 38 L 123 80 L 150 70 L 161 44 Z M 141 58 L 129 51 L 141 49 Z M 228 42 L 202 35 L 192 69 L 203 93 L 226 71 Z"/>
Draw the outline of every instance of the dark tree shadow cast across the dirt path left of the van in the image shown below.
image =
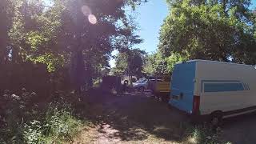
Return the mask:
<path fill-rule="evenodd" d="M 158 102 L 150 93 L 113 96 L 94 90 L 85 101 L 92 106 L 86 118 L 99 125 L 98 132 L 109 138 L 139 141 L 153 136 L 180 141 L 184 134 L 182 124 L 186 117 L 168 109 L 166 103 Z"/>

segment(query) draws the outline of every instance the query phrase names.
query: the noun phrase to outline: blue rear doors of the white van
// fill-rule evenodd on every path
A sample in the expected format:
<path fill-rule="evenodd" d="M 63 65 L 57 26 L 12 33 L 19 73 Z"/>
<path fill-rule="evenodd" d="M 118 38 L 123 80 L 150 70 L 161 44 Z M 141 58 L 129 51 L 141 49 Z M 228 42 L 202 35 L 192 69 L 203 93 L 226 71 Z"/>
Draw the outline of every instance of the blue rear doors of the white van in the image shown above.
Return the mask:
<path fill-rule="evenodd" d="M 183 62 L 174 66 L 171 80 L 170 105 L 192 113 L 196 62 Z"/>

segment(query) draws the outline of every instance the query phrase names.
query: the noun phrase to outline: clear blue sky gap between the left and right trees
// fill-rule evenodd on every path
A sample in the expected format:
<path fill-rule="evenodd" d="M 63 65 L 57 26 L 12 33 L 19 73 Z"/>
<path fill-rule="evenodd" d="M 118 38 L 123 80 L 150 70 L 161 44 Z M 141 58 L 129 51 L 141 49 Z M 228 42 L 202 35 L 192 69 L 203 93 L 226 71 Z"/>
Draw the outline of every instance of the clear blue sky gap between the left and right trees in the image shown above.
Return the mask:
<path fill-rule="evenodd" d="M 168 14 L 166 0 L 150 0 L 137 9 L 138 35 L 144 42 L 136 47 L 153 52 L 158 46 L 158 33 Z"/>

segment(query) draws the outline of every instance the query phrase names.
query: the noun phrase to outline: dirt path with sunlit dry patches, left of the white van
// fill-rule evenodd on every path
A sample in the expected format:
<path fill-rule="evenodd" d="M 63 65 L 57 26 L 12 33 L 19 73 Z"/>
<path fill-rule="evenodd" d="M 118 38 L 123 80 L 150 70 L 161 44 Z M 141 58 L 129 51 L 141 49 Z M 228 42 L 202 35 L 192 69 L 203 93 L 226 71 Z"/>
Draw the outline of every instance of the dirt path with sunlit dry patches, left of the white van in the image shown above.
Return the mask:
<path fill-rule="evenodd" d="M 181 139 L 186 117 L 150 94 L 110 98 L 94 104 L 92 109 L 101 120 L 74 143 L 92 143 L 92 139 L 93 143 L 177 143 Z"/>

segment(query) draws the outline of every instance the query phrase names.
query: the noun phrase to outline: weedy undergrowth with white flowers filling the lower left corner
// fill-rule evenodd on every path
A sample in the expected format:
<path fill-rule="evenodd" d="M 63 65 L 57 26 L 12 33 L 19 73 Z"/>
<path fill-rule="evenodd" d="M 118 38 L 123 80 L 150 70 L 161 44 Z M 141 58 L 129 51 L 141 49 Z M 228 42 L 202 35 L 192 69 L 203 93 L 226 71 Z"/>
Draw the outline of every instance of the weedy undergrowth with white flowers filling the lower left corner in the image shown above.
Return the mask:
<path fill-rule="evenodd" d="M 36 94 L 10 94 L 0 97 L 0 143 L 62 143 L 70 141 L 82 127 L 65 96 L 38 107 L 31 101 Z M 64 99 L 63 99 L 64 98 Z"/>

